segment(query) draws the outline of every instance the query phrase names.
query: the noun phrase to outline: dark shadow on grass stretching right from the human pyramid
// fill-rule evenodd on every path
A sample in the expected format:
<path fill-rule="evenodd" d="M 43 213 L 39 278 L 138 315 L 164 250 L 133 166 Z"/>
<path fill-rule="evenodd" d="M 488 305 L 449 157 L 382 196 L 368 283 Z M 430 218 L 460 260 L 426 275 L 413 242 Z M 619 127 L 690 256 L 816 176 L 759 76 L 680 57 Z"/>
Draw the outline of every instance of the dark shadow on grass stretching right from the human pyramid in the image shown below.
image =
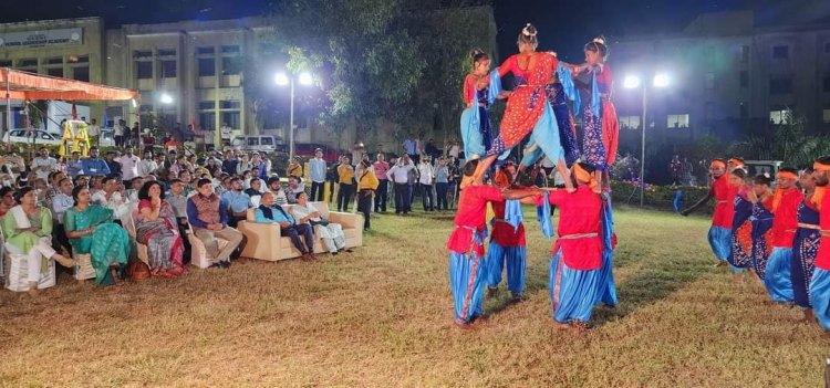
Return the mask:
<path fill-rule="evenodd" d="M 599 327 L 623 318 L 642 306 L 667 297 L 712 270 L 708 261 L 665 259 L 646 263 L 641 271 L 618 283 L 620 304 L 615 308 L 594 308 L 593 325 Z"/>

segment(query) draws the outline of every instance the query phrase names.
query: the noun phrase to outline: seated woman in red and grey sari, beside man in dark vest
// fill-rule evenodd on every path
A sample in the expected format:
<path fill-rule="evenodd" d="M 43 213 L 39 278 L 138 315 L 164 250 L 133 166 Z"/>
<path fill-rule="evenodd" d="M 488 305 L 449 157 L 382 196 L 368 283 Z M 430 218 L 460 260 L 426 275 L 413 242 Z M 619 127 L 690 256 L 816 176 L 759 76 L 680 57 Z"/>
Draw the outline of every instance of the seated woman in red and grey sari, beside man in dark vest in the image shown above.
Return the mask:
<path fill-rule="evenodd" d="M 185 273 L 184 242 L 178 233 L 176 213 L 164 197 L 162 185 L 157 181 L 144 183 L 138 191 L 135 239 L 147 245 L 151 273 L 173 279 Z"/>

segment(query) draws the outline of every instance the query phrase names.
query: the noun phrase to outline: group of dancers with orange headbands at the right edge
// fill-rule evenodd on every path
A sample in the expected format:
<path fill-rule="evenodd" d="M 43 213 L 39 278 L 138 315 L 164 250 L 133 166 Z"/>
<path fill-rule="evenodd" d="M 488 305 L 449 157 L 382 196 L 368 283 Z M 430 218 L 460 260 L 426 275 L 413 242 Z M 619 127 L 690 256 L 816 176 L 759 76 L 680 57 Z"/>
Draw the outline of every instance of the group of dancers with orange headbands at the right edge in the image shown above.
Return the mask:
<path fill-rule="evenodd" d="M 805 321 L 830 331 L 830 156 L 802 171 L 747 177 L 744 160 L 715 159 L 712 186 L 688 216 L 715 199 L 708 240 L 717 265 L 729 265 L 736 283 L 751 274 L 772 303 L 795 304 Z"/>

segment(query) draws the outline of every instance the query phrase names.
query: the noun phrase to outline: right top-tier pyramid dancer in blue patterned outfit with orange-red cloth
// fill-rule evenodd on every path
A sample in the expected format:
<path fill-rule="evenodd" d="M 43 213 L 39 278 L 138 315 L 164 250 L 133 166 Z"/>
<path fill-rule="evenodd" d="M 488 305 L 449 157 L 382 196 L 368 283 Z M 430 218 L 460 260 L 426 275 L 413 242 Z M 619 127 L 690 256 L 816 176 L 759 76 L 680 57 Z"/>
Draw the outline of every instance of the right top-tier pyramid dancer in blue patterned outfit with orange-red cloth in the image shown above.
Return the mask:
<path fill-rule="evenodd" d="M 620 125 L 611 103 L 613 75 L 605 64 L 608 45 L 598 36 L 584 46 L 585 63 L 573 67 L 574 84 L 580 92 L 582 111 L 582 158 L 596 167 L 594 172 L 603 187 L 609 185 L 608 168 L 616 159 Z M 600 180 L 602 179 L 602 180 Z"/>

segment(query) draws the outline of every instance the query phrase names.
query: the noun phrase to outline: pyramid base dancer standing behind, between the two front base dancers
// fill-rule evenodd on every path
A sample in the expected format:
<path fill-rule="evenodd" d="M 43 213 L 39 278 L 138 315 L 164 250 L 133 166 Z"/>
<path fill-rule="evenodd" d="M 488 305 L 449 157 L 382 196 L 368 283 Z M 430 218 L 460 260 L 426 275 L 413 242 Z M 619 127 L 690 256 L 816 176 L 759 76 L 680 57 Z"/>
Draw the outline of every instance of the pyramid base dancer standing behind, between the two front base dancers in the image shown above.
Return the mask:
<path fill-rule="evenodd" d="M 507 188 L 512 182 L 516 174 L 515 166 L 508 164 L 499 168 L 494 177 L 494 183 L 500 188 Z M 521 205 L 511 202 L 515 200 L 492 202 L 494 219 L 490 220 L 492 230 L 490 232 L 490 245 L 487 251 L 487 287 L 491 292 L 498 290 L 501 282 L 501 272 L 507 266 L 507 289 L 516 301 L 523 301 L 525 296 L 525 270 L 527 266 L 527 247 L 525 241 L 525 223 L 520 220 L 517 224 L 506 218 L 508 206 L 518 206 L 519 213 Z M 507 264 L 507 265 L 505 265 Z"/>

